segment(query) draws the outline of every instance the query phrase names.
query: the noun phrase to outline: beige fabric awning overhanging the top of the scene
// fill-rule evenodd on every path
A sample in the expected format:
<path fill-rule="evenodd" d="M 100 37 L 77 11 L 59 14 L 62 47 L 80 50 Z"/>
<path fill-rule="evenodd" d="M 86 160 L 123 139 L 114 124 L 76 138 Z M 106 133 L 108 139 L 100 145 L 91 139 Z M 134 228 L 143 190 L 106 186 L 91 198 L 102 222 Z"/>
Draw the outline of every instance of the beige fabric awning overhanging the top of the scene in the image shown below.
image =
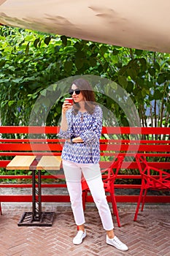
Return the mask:
<path fill-rule="evenodd" d="M 0 0 L 0 23 L 170 53 L 170 0 Z"/>

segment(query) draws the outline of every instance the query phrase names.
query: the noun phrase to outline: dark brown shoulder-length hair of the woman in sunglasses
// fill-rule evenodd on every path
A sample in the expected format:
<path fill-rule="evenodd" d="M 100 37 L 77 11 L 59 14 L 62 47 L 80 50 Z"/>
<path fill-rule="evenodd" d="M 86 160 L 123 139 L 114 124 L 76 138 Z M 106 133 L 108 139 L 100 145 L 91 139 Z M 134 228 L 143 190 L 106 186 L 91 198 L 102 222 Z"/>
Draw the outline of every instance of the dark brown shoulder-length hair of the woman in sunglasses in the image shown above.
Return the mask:
<path fill-rule="evenodd" d="M 85 109 L 88 113 L 92 114 L 96 105 L 96 99 L 94 95 L 94 91 L 88 83 L 87 80 L 79 78 L 72 82 L 72 85 L 76 85 L 78 89 L 82 92 L 83 97 L 85 97 Z M 72 87 L 72 86 L 71 86 Z M 77 114 L 78 110 L 80 110 L 79 103 L 73 105 L 74 114 Z"/>

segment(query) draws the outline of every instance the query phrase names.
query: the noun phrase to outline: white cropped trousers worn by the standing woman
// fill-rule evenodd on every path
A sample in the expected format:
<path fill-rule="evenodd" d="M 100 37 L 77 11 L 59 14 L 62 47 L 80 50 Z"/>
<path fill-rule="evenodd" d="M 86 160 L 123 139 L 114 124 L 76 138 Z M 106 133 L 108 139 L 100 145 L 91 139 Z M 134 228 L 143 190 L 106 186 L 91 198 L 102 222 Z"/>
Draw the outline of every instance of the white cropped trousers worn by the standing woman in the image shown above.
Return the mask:
<path fill-rule="evenodd" d="M 72 211 L 76 225 L 85 223 L 85 216 L 82 207 L 82 175 L 88 183 L 90 193 L 93 197 L 98 214 L 104 230 L 114 228 L 112 214 L 107 203 L 107 197 L 104 191 L 104 184 L 101 178 L 99 164 L 77 164 L 63 160 L 63 171 L 66 177 L 66 185 L 69 191 Z"/>

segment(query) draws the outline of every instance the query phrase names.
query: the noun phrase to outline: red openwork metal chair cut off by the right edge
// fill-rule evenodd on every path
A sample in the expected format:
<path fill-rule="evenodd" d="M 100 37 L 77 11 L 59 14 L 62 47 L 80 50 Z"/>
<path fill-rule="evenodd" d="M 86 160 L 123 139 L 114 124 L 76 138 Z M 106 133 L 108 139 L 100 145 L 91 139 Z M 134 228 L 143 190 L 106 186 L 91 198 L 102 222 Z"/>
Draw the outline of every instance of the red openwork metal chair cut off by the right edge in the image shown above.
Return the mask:
<path fill-rule="evenodd" d="M 142 185 L 139 200 L 136 206 L 134 221 L 137 220 L 140 203 L 142 203 L 141 211 L 144 209 L 148 189 L 160 191 L 170 190 L 170 173 L 150 166 L 150 162 L 147 162 L 146 157 L 144 157 L 142 154 L 137 154 L 136 162 L 142 176 Z"/>

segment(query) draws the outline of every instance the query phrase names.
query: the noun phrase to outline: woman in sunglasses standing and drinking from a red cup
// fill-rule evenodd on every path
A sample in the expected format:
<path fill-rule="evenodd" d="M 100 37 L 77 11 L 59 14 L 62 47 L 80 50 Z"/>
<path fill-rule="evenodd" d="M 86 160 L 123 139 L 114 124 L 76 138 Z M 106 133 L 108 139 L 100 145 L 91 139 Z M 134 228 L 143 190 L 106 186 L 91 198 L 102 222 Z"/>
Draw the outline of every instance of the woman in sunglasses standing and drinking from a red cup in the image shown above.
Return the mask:
<path fill-rule="evenodd" d="M 78 230 L 73 243 L 81 244 L 86 236 L 82 207 L 81 179 L 83 175 L 98 208 L 102 225 L 107 231 L 107 244 L 121 251 L 127 251 L 128 247 L 114 234 L 112 215 L 98 164 L 102 110 L 96 105 L 93 90 L 88 81 L 84 79 L 74 80 L 69 94 L 72 95 L 74 104 L 71 105 L 66 100 L 63 102 L 61 129 L 58 135 L 66 139 L 62 151 L 63 171 Z"/>

